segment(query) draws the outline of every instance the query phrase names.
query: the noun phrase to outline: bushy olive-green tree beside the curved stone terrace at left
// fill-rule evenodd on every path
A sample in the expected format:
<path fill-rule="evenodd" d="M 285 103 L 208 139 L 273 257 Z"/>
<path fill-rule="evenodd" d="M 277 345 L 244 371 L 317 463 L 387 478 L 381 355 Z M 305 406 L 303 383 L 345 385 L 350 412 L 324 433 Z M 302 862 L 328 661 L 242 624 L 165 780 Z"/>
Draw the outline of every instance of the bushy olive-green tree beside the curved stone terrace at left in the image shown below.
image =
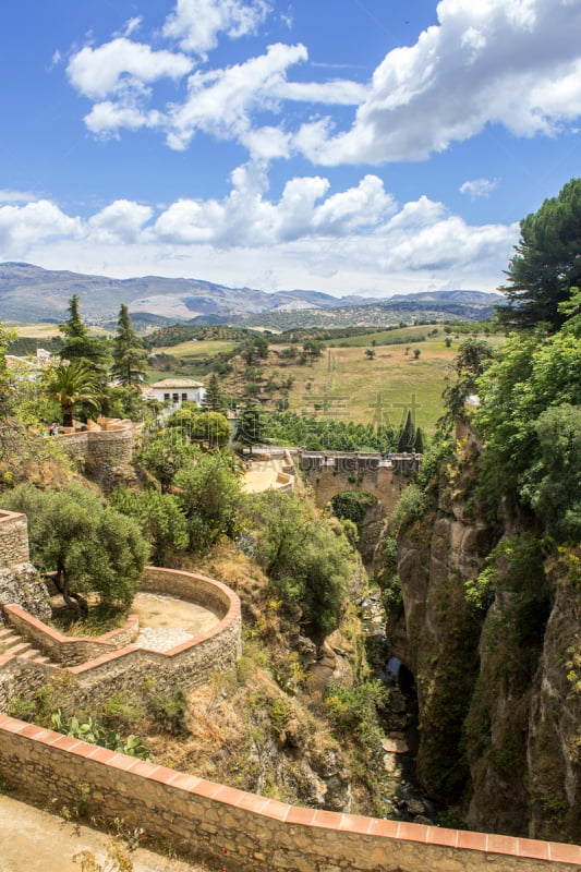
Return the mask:
<path fill-rule="evenodd" d="M 104 605 L 129 606 L 136 593 L 148 548 L 138 526 L 78 484 L 63 491 L 21 485 L 4 505 L 28 517 L 33 562 L 55 572 L 64 602 L 86 615 L 82 594 L 98 592 Z"/>

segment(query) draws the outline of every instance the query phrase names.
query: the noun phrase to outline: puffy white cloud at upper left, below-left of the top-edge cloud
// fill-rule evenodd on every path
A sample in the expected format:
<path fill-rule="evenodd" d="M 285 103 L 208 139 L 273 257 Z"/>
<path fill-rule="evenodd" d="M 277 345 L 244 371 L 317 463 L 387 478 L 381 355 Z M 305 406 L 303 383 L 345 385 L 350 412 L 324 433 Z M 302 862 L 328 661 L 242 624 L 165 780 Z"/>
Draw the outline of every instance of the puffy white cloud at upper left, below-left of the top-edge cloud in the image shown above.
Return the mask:
<path fill-rule="evenodd" d="M 69 61 L 66 75 L 80 94 L 99 100 L 126 90 L 128 86 L 141 88 L 159 78 L 182 78 L 193 65 L 185 55 L 154 51 L 147 45 L 119 37 L 98 48 L 82 48 Z"/>

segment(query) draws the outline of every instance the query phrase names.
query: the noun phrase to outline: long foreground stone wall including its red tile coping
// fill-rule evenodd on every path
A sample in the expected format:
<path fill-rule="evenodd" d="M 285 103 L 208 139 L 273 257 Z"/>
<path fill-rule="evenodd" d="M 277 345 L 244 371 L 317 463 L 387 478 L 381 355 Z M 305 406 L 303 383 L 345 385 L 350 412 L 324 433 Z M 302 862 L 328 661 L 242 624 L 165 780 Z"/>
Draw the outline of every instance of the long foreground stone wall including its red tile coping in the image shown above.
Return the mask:
<path fill-rule="evenodd" d="M 43 802 L 87 814 L 228 872 L 573 872 L 574 845 L 313 809 L 213 784 L 0 715 L 0 773 Z"/>

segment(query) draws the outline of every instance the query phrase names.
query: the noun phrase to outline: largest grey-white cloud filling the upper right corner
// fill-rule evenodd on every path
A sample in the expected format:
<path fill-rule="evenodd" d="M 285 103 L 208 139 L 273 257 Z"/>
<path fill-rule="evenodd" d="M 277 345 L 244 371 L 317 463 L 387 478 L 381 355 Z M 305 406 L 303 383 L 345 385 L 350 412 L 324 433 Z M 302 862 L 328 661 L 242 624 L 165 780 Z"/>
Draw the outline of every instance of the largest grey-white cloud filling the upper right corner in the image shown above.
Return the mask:
<path fill-rule="evenodd" d="M 581 114 L 579 0 L 441 0 L 439 24 L 390 51 L 347 132 L 303 125 L 315 164 L 420 160 L 501 123 L 554 134 Z"/>

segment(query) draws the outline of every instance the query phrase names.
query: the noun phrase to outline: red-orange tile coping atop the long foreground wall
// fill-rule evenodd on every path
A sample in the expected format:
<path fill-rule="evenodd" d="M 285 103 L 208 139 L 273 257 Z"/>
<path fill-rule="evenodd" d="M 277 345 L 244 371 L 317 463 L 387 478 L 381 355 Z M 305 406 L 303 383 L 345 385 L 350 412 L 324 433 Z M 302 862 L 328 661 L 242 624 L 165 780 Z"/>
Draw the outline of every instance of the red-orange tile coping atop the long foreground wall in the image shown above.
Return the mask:
<path fill-rule="evenodd" d="M 186 775 L 166 766 L 146 763 L 137 758 L 108 751 L 105 748 L 88 744 L 70 736 L 62 736 L 52 730 L 37 727 L 34 724 L 25 724 L 4 714 L 0 714 L 0 731 L 2 730 L 15 736 L 22 736 L 24 739 L 39 744 L 58 748 L 63 752 L 76 754 L 105 766 L 130 772 L 132 775 L 157 782 L 175 790 L 183 790 L 237 809 L 243 809 L 291 826 L 313 826 L 323 829 L 335 829 L 341 833 L 360 833 L 400 841 L 415 841 L 423 845 L 456 848 L 457 850 L 536 859 L 552 862 L 553 864 L 581 865 L 581 847 L 577 845 L 517 838 L 493 833 L 446 829 L 437 826 L 424 826 L 423 824 L 289 806 L 276 799 L 246 794 L 234 787 L 206 782 L 194 775 Z"/>

